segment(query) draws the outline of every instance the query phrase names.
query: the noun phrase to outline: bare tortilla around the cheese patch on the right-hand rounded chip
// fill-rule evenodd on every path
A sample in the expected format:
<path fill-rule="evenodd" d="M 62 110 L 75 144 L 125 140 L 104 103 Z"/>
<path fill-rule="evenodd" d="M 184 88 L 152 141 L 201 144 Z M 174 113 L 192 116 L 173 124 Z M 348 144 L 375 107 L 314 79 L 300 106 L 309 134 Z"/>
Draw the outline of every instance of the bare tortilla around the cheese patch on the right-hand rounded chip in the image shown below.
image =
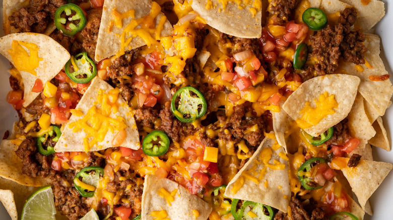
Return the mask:
<path fill-rule="evenodd" d="M 318 100 L 319 95 L 324 92 L 334 95 L 338 103 L 338 107 L 334 108 L 335 113 L 324 117 L 318 124 L 304 129 L 311 136 L 317 137 L 347 117 L 355 100 L 359 83 L 358 77 L 345 74 L 331 74 L 309 79 L 288 97 L 283 109 L 296 121 L 302 117 L 300 111 L 307 101 L 311 103 L 311 107 L 315 107 L 314 100 Z"/>

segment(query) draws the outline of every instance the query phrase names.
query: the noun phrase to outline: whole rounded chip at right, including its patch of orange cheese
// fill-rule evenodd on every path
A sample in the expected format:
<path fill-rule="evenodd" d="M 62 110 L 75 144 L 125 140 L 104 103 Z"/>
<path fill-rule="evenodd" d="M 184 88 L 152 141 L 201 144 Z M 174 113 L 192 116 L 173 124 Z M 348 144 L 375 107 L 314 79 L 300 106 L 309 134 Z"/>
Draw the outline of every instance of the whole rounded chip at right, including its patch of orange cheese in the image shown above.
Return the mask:
<path fill-rule="evenodd" d="M 288 97 L 283 109 L 298 125 L 299 120 L 302 120 L 303 124 L 308 123 L 309 127 L 302 128 L 300 125 L 299 127 L 311 136 L 317 137 L 348 116 L 359 83 L 359 77 L 345 74 L 331 74 L 309 79 Z M 321 96 L 326 100 L 322 100 Z M 328 103 L 328 100 L 331 103 Z M 317 105 L 317 102 L 320 104 Z M 312 122 L 307 121 L 316 116 L 320 118 L 316 124 L 312 125 Z"/>

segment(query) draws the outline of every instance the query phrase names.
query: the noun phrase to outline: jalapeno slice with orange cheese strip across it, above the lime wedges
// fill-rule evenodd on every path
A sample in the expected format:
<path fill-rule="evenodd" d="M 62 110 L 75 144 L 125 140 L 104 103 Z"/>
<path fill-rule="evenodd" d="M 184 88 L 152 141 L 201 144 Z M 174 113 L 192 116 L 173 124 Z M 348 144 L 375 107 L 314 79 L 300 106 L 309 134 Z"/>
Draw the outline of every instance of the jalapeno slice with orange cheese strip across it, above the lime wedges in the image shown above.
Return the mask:
<path fill-rule="evenodd" d="M 101 167 L 85 167 L 74 178 L 75 188 L 83 197 L 93 197 L 103 175 L 104 169 Z"/>

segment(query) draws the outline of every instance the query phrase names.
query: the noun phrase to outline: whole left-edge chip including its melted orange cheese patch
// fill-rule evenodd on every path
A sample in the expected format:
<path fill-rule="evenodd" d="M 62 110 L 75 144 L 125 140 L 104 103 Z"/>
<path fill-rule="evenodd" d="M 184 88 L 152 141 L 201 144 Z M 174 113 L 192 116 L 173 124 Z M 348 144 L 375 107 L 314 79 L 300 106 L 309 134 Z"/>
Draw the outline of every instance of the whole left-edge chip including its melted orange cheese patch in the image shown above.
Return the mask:
<path fill-rule="evenodd" d="M 32 92 L 37 79 L 50 81 L 65 63 L 70 53 L 51 37 L 36 33 L 16 33 L 0 38 L 0 53 L 20 72 L 24 84 L 23 106 L 28 106 L 40 92 Z"/>

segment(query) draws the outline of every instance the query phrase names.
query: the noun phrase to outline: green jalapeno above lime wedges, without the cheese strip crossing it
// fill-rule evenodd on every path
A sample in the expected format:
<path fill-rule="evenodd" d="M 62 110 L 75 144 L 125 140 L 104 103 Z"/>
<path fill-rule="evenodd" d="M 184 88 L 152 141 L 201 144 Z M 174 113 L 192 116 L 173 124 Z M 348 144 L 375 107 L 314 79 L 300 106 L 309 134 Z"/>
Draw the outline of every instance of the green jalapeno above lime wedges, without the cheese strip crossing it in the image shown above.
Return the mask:
<path fill-rule="evenodd" d="M 94 171 L 94 174 L 88 173 L 90 171 Z M 100 181 L 100 175 L 104 175 L 104 169 L 102 167 L 94 166 L 94 167 L 85 167 L 77 175 L 75 175 L 74 178 L 74 186 L 81 194 L 83 197 L 93 197 L 95 191 L 86 191 L 87 189 L 84 189 L 80 186 L 77 185 L 76 179 L 79 179 L 79 177 L 82 177 L 82 182 L 93 185 L 94 187 L 97 187 L 98 182 Z"/>

